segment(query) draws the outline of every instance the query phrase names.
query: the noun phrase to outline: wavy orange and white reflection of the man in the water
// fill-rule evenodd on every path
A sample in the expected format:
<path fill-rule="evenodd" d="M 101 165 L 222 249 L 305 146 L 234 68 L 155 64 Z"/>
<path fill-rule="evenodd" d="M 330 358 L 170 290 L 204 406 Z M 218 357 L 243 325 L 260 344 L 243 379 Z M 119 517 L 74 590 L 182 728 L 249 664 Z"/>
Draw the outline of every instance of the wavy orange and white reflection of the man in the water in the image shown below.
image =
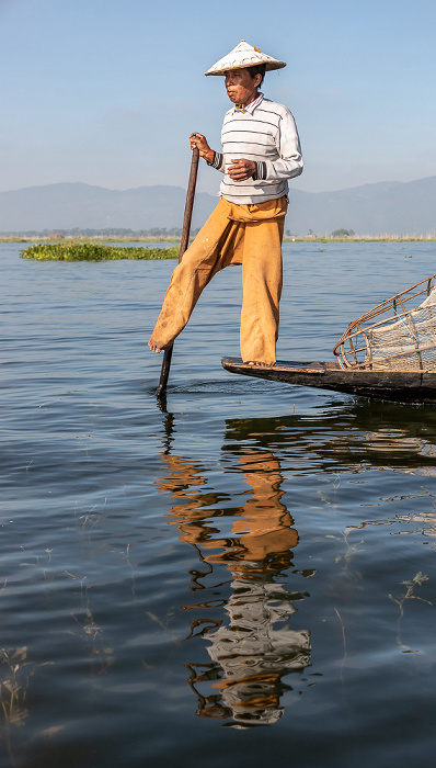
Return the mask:
<path fill-rule="evenodd" d="M 227 619 L 211 622 L 215 630 L 208 628 L 204 633 L 213 664 L 187 665 L 190 685 L 198 696 L 197 714 L 232 716 L 233 725 L 241 727 L 273 724 L 284 711 L 279 701 L 287 686 L 282 677 L 307 667 L 311 650 L 309 631 L 291 630 L 286 623 L 296 612 L 292 600 L 302 596 L 290 595 L 277 581 L 291 564 L 290 549 L 298 543 L 294 520 L 280 500 L 278 462 L 269 452 L 240 458 L 253 495 L 238 509 L 231 538 L 211 539 L 205 524 L 211 517 L 211 499 L 193 492 L 205 484 L 198 468 L 177 456 L 164 455 L 163 460 L 171 476 L 163 478 L 161 487 L 186 501 L 170 512 L 176 517 L 180 539 L 203 551 L 202 560 L 210 568 L 214 563 L 225 564 L 232 575 Z M 215 552 L 206 553 L 211 550 Z M 202 671 L 196 673 L 195 666 Z M 199 692 L 196 686 L 206 680 L 217 694 Z"/>

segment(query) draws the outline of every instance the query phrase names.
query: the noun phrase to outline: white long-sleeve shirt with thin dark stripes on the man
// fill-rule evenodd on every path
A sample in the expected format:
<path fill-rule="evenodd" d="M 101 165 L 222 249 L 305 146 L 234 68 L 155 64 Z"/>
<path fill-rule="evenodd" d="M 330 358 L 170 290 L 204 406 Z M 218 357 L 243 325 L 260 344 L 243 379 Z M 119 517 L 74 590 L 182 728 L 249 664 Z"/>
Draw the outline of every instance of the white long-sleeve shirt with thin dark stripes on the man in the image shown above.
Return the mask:
<path fill-rule="evenodd" d="M 259 103 L 260 102 L 260 103 Z M 282 197 L 288 179 L 302 171 L 297 126 L 289 110 L 269 99 L 257 99 L 253 110 L 232 108 L 223 120 L 222 153 L 210 165 L 225 174 L 219 194 L 230 203 L 253 204 Z M 256 172 L 246 181 L 232 181 L 232 160 L 253 160 Z"/>

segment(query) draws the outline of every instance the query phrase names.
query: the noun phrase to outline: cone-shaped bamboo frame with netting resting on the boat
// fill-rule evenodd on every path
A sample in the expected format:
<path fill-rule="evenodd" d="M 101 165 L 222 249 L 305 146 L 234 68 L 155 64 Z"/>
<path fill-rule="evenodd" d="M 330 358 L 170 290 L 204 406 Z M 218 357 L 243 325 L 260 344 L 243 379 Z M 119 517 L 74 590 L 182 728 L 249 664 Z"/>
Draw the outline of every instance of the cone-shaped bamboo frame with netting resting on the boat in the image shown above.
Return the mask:
<path fill-rule="evenodd" d="M 436 371 L 436 274 L 351 323 L 333 353 L 343 369 Z"/>

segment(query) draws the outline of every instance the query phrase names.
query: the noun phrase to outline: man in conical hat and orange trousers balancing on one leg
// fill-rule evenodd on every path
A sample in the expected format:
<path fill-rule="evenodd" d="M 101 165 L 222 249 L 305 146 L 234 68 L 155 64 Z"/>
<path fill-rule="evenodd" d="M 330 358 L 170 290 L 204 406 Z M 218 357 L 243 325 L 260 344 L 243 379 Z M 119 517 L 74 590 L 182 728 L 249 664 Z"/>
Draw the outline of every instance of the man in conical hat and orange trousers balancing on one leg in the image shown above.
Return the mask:
<path fill-rule="evenodd" d="M 289 110 L 260 92 L 265 71 L 286 67 L 241 41 L 205 72 L 223 75 L 233 106 L 226 113 L 222 153 L 191 134 L 206 162 L 223 173 L 220 199 L 175 268 L 148 342 L 153 352 L 171 347 L 211 278 L 242 264 L 242 360 L 271 368 L 276 361 L 278 303 L 283 286 L 282 239 L 287 180 L 302 171 L 297 127 Z"/>

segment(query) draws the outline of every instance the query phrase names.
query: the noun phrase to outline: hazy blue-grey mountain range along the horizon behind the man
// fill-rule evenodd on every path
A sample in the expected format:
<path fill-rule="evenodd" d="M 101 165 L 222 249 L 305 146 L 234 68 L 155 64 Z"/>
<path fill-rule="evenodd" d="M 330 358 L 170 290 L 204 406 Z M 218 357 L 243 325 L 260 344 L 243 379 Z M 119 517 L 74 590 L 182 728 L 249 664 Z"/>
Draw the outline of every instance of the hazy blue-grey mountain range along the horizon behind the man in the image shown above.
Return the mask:
<path fill-rule="evenodd" d="M 180 187 L 107 190 L 82 183 L 27 187 L 0 192 L 0 233 L 57 229 L 133 230 L 181 227 L 186 192 Z M 302 192 L 290 183 L 286 229 L 292 235 L 330 235 L 354 229 L 356 235 L 436 236 L 436 176 L 418 181 L 365 184 L 337 192 Z M 206 192 L 195 196 L 193 228 L 216 205 Z"/>

